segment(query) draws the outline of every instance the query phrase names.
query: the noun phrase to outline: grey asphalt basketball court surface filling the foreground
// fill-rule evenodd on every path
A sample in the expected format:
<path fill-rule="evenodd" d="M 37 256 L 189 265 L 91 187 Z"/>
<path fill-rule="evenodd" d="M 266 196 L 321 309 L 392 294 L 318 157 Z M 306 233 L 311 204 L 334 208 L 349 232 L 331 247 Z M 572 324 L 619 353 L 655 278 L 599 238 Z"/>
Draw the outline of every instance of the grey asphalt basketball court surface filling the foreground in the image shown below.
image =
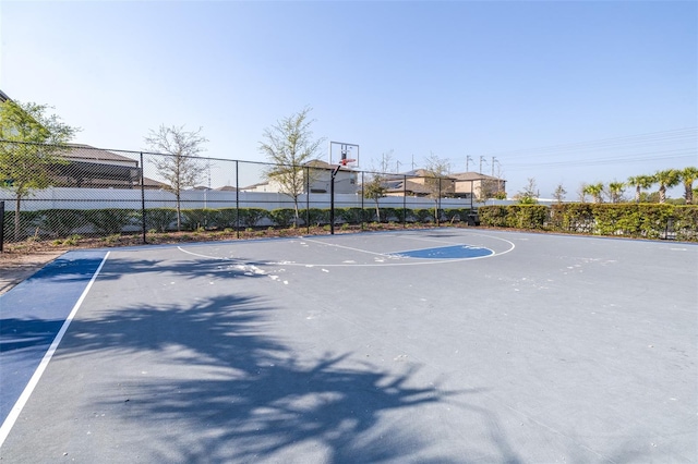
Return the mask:
<path fill-rule="evenodd" d="M 458 229 L 111 249 L 0 457 L 696 462 L 697 269 L 694 244 Z M 13 337 L 3 386 L 48 339 Z"/>

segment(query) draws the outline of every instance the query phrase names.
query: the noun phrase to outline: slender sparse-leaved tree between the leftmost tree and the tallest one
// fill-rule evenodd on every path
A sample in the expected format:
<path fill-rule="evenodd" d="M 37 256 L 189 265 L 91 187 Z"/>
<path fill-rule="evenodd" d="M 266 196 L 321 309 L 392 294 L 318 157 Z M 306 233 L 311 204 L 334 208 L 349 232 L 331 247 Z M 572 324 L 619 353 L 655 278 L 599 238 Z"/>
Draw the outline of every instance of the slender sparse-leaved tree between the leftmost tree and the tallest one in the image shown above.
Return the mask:
<path fill-rule="evenodd" d="M 198 154 L 205 150 L 208 142 L 198 131 L 184 131 L 184 126 L 160 125 L 157 131 L 151 130 L 145 137 L 148 147 L 166 156 L 152 160 L 158 174 L 168 183 L 170 192 L 177 198 L 177 230 L 182 230 L 182 191 L 195 186 L 206 172 L 206 163 Z"/>

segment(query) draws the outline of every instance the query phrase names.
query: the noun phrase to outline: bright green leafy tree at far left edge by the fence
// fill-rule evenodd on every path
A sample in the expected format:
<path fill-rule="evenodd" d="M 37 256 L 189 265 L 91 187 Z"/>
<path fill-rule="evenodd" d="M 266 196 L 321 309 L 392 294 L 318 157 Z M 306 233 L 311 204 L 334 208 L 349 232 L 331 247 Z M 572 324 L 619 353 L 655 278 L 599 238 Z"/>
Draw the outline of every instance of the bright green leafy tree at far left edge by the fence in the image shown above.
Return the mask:
<path fill-rule="evenodd" d="M 51 166 L 64 163 L 61 154 L 79 127 L 48 114 L 52 107 L 7 100 L 0 103 L 0 183 L 14 195 L 14 239 L 20 240 L 22 199 L 49 187 Z"/>

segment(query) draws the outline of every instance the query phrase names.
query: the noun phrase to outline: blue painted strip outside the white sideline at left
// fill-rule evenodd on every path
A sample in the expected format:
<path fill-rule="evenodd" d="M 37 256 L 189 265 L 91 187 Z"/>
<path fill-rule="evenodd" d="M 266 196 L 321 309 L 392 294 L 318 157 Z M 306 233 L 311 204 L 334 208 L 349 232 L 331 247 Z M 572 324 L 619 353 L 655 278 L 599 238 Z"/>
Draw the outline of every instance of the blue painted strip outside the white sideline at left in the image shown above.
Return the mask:
<path fill-rule="evenodd" d="M 0 295 L 0 424 L 107 252 L 69 252 Z"/>

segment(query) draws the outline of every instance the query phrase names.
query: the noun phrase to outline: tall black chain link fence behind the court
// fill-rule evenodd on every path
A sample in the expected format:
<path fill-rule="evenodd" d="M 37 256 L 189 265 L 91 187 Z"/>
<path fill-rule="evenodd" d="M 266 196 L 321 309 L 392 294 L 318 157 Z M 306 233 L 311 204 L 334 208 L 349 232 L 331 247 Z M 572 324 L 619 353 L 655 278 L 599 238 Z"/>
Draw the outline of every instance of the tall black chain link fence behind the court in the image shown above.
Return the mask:
<path fill-rule="evenodd" d="M 466 220 L 473 183 L 0 141 L 4 241 Z M 333 229 L 334 231 L 334 229 Z"/>

